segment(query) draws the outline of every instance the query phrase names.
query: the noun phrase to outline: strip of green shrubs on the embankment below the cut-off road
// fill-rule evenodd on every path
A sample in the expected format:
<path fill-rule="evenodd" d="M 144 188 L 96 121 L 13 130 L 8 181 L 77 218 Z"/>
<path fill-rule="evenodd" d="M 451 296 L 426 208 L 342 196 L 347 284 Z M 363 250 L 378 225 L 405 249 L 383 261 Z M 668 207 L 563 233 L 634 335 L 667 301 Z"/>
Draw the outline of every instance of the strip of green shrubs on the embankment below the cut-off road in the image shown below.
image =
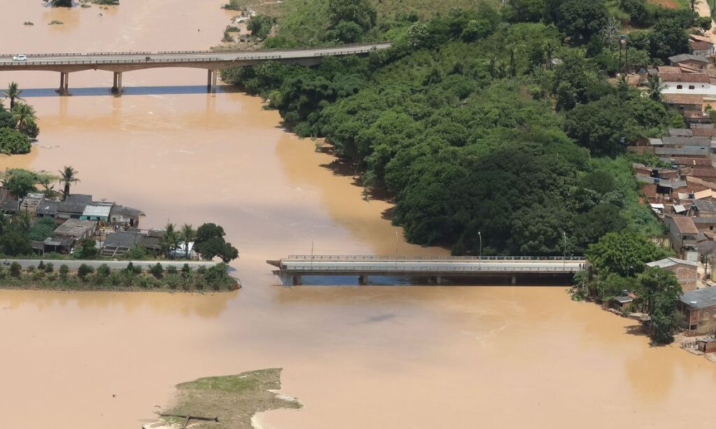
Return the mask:
<path fill-rule="evenodd" d="M 127 264 L 125 269 L 112 270 L 102 264 L 94 269 L 82 265 L 70 270 L 66 265 L 41 262 L 21 269 L 19 264 L 0 268 L 0 289 L 56 291 L 233 291 L 238 281 L 229 276 L 225 264 L 176 269 L 156 264 L 146 271 Z"/>

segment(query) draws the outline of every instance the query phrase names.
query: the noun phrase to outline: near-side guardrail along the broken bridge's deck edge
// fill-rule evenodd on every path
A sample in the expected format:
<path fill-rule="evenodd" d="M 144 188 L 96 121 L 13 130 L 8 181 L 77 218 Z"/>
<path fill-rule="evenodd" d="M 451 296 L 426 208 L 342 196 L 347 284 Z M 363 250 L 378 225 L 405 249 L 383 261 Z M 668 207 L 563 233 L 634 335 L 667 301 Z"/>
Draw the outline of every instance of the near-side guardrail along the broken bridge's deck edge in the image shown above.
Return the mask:
<path fill-rule="evenodd" d="M 291 266 L 290 269 L 276 270 L 291 271 L 291 272 L 314 272 L 314 271 L 328 271 L 328 272 L 341 272 L 341 273 L 358 273 L 358 272 L 372 272 L 372 273 L 475 273 L 475 272 L 491 272 L 491 273 L 504 273 L 504 272 L 558 272 L 558 273 L 572 273 L 579 271 L 574 267 L 561 267 L 561 266 L 545 266 L 545 267 L 490 267 L 490 266 L 451 266 L 451 267 L 437 267 L 437 266 L 320 266 L 320 265 L 305 265 L 305 266 Z"/>

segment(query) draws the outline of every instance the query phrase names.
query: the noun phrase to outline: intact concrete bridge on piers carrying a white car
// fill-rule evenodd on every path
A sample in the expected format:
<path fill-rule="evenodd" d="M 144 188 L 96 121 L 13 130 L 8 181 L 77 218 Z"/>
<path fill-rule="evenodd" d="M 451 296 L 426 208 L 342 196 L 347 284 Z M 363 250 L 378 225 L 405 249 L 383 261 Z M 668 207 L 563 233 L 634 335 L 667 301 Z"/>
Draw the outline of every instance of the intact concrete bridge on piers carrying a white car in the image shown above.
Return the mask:
<path fill-rule="evenodd" d="M 89 54 L 26 54 L 26 61 L 13 61 L 13 54 L 0 54 L 0 72 L 40 70 L 59 72 L 59 92 L 66 95 L 69 73 L 84 70 L 105 70 L 114 73 L 112 92 L 122 94 L 122 73 L 160 67 L 192 67 L 206 69 L 206 87 L 216 90 L 216 75 L 221 69 L 278 61 L 289 64 L 314 65 L 326 56 L 367 54 L 373 49 L 390 48 L 390 43 L 354 44 L 311 49 L 276 49 L 266 51 L 165 51 L 165 52 L 95 52 Z M 20 54 L 17 52 L 16 54 Z"/>

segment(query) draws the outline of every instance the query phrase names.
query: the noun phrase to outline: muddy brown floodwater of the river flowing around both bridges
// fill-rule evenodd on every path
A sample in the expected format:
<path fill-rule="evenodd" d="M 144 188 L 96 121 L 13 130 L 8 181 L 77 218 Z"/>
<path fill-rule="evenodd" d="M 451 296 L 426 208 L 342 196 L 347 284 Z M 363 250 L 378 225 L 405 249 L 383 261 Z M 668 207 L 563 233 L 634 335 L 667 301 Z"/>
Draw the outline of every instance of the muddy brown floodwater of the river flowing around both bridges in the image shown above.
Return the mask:
<path fill-rule="evenodd" d="M 2 50 L 205 49 L 232 16 L 221 3 L 122 0 L 99 16 L 4 0 Z M 311 241 L 316 254 L 392 254 L 390 206 L 363 201 L 260 100 L 200 92 L 203 70 L 125 73 L 121 98 L 107 94 L 111 78 L 72 73 L 74 96 L 57 97 L 57 73 L 1 73 L 0 86 L 24 88 L 42 134 L 0 167 L 73 165 L 75 191 L 144 209 L 143 226 L 220 223 L 241 250 L 244 288 L 0 291 L 3 427 L 139 428 L 177 382 L 266 367 L 283 367 L 284 391 L 306 405 L 261 415 L 266 428 L 715 423 L 716 365 L 650 348 L 632 322 L 563 287 L 276 286 L 264 261 Z"/>

